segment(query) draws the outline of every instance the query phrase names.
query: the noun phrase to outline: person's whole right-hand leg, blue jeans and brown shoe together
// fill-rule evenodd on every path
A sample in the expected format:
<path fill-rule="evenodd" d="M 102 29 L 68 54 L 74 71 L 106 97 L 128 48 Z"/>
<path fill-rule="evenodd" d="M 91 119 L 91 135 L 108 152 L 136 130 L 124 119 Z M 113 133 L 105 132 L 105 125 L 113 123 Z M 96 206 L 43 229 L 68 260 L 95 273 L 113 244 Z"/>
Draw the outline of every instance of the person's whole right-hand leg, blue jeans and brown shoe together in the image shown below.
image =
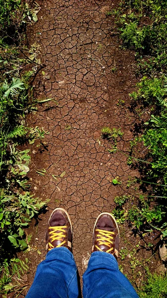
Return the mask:
<path fill-rule="evenodd" d="M 111 214 L 101 214 L 94 227 L 93 248 L 83 275 L 84 298 L 138 298 L 117 264 L 119 231 Z"/>

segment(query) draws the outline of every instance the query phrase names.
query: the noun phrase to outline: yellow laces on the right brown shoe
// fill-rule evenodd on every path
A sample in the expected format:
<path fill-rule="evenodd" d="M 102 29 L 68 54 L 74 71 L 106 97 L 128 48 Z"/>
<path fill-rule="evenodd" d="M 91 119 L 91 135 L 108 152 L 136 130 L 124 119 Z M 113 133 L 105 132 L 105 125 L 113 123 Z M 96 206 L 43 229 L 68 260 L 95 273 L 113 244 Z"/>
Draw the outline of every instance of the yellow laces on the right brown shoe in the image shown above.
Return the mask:
<path fill-rule="evenodd" d="M 99 241 L 99 245 L 107 245 L 110 247 L 110 245 L 113 244 L 113 242 L 111 241 L 111 240 L 113 240 L 113 237 L 111 235 L 114 235 L 114 232 L 101 230 L 101 229 L 96 229 L 96 231 L 99 232 L 99 234 L 97 234 L 97 237 L 99 237 L 99 239 L 97 239 Z M 97 245 L 95 245 L 95 247 L 97 249 L 99 249 L 100 251 L 103 251 Z M 111 250 L 113 250 L 113 247 L 108 249 L 106 252 L 110 252 Z"/>

